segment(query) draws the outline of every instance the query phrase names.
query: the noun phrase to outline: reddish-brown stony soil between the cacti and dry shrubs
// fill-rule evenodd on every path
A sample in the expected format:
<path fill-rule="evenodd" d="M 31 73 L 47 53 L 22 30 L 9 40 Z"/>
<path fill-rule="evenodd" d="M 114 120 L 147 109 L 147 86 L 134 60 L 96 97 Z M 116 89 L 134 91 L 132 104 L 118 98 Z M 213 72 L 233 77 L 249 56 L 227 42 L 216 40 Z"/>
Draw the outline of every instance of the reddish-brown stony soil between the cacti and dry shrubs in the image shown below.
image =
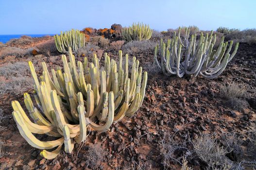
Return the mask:
<path fill-rule="evenodd" d="M 47 40 L 38 39 L 34 44 L 24 48 L 34 47 L 43 41 Z M 112 54 L 112 51 L 107 52 Z M 153 62 L 153 50 L 148 53 L 138 53 L 136 56 L 144 70 L 151 67 L 149 62 Z M 11 60 L 3 59 L 0 65 L 6 62 L 32 60 L 37 71 L 40 72 L 39 64 L 42 61 L 47 62 L 49 68 L 61 65 L 60 55 L 56 55 L 55 58 L 57 59 L 51 60 L 44 56 L 39 58 L 27 56 Z M 82 61 L 82 57 L 77 59 Z M 0 163 L 6 162 L 7 167 L 17 167 L 17 169 L 29 165 L 35 170 L 82 170 L 85 169 L 81 167 L 83 156 L 89 152 L 85 146 L 98 143 L 107 153 L 98 169 L 112 170 L 124 169 L 124 167 L 133 169 L 138 167 L 137 165 L 144 165 L 145 169 L 163 169 L 162 156 L 157 144 L 164 131 L 175 133 L 176 138 L 189 135 L 193 139 L 204 133 L 218 137 L 224 133 L 232 133 L 245 140 L 250 135 L 249 131 L 255 130 L 256 115 L 252 108 L 255 106 L 251 105 L 238 112 L 224 105 L 225 101 L 219 97 L 220 84 L 232 81 L 248 84 L 246 100 L 256 99 L 255 45 L 240 44 L 235 58 L 222 75 L 213 80 L 202 77 L 196 79 L 166 77 L 162 73 L 150 73 L 145 100 L 134 117 L 114 123 L 106 133 L 91 132 L 83 147 L 82 144 L 75 144 L 71 154 L 62 152 L 53 160 L 42 159 L 39 155 L 40 151 L 30 146 L 17 130 L 15 121 L 11 117 L 10 103 L 12 100 L 18 100 L 24 105 L 23 96 L 1 95 L 0 107 L 10 115 L 10 118 L 5 119 L 1 124 L 7 126 L 0 134 L 5 141 L 4 147 L 7 153 L 0 159 Z M 228 116 L 228 111 L 234 111 L 237 117 Z M 38 136 L 42 140 L 46 140 L 45 137 Z M 199 166 L 194 168 L 196 167 L 200 169 Z M 173 169 L 180 169 L 180 166 L 173 163 Z"/>

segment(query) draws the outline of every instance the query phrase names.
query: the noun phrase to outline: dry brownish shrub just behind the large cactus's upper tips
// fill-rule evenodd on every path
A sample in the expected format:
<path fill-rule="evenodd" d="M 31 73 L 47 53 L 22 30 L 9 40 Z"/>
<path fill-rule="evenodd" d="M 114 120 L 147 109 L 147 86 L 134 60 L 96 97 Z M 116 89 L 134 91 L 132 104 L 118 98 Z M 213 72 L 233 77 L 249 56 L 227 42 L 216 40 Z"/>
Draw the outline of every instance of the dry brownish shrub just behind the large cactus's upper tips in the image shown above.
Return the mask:
<path fill-rule="evenodd" d="M 103 50 L 92 43 L 87 43 L 84 47 L 77 50 L 78 56 L 86 56 L 92 58 L 94 53 L 96 53 L 99 60 L 101 60 Z"/>

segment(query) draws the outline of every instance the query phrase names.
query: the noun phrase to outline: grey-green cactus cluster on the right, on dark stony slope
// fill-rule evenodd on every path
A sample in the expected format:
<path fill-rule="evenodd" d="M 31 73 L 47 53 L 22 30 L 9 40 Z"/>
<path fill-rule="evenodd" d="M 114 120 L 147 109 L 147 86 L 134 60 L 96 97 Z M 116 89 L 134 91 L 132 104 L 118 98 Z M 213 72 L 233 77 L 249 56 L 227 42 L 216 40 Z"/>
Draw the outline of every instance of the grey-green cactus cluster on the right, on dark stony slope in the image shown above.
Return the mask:
<path fill-rule="evenodd" d="M 197 39 L 196 34 L 189 36 L 188 28 L 184 36 L 180 35 L 180 31 L 179 28 L 178 34 L 174 32 L 172 39 L 167 43 L 161 39 L 160 45 L 154 49 L 154 63 L 168 76 L 201 74 L 205 78 L 213 79 L 222 73 L 238 50 L 239 43 L 230 54 L 233 41 L 224 42 L 224 37 L 218 49 L 213 50 L 216 42 L 216 34 L 213 35 L 213 32 L 205 35 L 201 33 Z"/>

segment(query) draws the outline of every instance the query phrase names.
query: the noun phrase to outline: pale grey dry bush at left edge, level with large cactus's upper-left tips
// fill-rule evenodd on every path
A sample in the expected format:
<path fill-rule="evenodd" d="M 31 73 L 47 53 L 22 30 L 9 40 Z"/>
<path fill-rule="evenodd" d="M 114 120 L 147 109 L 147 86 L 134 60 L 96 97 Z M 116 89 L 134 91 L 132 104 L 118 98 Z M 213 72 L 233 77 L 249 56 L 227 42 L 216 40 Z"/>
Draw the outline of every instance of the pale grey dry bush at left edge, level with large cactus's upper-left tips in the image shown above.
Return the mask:
<path fill-rule="evenodd" d="M 0 67 L 0 76 L 8 78 L 8 76 L 24 76 L 29 74 L 29 66 L 27 62 L 8 63 Z"/>

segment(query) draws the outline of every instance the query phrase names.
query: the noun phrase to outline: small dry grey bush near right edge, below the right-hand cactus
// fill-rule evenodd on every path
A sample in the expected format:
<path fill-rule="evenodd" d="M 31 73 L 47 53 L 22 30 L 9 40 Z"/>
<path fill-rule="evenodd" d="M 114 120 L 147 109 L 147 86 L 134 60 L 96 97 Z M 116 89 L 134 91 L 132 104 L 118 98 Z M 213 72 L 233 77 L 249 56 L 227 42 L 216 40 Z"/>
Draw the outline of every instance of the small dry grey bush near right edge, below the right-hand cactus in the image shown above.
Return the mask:
<path fill-rule="evenodd" d="M 248 85 L 244 83 L 238 84 L 236 82 L 232 82 L 228 85 L 220 85 L 220 94 L 222 98 L 227 100 L 241 98 L 245 96 L 247 89 Z"/>

